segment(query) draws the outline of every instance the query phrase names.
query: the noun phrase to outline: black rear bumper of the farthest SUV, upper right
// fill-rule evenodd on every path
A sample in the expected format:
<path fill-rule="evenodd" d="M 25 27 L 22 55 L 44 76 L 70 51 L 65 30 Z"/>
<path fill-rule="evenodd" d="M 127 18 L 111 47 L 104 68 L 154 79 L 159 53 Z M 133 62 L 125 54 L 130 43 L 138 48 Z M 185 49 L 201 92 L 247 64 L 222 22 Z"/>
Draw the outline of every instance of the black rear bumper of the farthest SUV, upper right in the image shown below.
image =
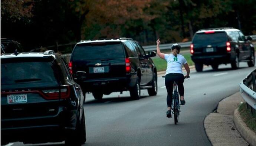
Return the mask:
<path fill-rule="evenodd" d="M 191 56 L 191 59 L 193 60 L 194 63 L 203 63 L 206 65 L 225 64 L 225 63 L 232 62 L 231 54 L 211 55 L 211 56 Z"/>

